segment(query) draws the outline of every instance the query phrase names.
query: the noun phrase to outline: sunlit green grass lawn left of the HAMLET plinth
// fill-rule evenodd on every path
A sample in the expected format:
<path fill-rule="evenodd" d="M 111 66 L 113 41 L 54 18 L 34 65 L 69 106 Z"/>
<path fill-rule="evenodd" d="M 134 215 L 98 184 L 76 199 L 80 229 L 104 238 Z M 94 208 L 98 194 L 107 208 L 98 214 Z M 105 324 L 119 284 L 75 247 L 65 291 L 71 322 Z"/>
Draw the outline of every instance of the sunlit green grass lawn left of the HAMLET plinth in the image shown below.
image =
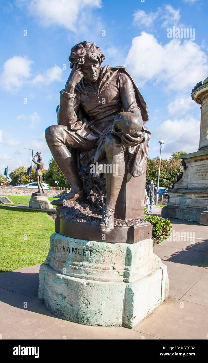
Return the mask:
<path fill-rule="evenodd" d="M 0 273 L 44 262 L 55 229 L 47 212 L 0 205 L 0 215 Z"/>

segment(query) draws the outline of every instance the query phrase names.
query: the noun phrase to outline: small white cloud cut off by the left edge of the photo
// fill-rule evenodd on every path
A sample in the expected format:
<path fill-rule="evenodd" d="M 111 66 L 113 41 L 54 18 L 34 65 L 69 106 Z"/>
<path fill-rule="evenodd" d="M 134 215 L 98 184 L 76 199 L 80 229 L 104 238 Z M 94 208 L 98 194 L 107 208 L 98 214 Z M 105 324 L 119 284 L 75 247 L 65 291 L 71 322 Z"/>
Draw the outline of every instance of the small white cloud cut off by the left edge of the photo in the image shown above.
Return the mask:
<path fill-rule="evenodd" d="M 1 86 L 14 93 L 23 86 L 23 83 L 30 78 L 30 66 L 34 62 L 27 57 L 14 56 L 4 63 L 4 70 L 0 76 Z"/>

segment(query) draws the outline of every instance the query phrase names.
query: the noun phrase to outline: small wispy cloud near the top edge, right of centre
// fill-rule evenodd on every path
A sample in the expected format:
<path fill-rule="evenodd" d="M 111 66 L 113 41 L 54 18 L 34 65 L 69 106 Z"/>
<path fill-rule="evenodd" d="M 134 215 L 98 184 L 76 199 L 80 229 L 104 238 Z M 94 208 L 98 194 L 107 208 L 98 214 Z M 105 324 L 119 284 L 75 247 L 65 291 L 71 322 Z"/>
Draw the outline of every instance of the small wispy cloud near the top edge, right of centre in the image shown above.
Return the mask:
<path fill-rule="evenodd" d="M 163 5 L 162 8 L 157 8 L 157 11 L 146 13 L 144 10 L 137 10 L 133 14 L 133 24 L 138 26 L 152 27 L 154 20 L 162 21 L 161 26 L 178 26 L 180 20 L 180 10 L 174 9 L 171 5 Z"/>

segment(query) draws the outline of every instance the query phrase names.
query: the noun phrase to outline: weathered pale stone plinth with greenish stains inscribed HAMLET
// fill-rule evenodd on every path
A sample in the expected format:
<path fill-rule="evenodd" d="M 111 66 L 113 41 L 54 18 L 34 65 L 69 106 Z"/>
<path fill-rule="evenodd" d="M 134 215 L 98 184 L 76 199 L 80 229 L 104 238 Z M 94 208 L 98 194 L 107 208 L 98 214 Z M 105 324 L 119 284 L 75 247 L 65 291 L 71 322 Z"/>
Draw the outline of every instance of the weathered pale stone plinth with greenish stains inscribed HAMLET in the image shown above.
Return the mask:
<path fill-rule="evenodd" d="M 39 281 L 47 309 L 86 325 L 133 328 L 169 292 L 167 267 L 150 238 L 112 244 L 54 233 Z"/>

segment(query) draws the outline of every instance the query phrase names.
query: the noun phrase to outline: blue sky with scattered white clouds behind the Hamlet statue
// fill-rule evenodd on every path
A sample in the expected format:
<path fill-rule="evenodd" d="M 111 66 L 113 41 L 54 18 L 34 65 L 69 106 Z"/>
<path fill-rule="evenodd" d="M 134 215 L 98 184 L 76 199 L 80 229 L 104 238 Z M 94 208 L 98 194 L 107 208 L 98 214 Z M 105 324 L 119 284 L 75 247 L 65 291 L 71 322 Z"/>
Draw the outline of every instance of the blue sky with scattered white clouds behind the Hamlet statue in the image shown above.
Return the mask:
<path fill-rule="evenodd" d="M 200 107 L 191 90 L 208 76 L 207 13 L 205 0 L 1 1 L 0 174 L 31 164 L 21 147 L 41 151 L 48 166 L 44 131 L 57 123 L 70 50 L 84 40 L 100 46 L 103 65 L 125 65 L 136 80 L 150 113 L 151 158 L 160 139 L 163 158 L 197 151 Z M 167 37 L 173 26 L 189 37 Z"/>

